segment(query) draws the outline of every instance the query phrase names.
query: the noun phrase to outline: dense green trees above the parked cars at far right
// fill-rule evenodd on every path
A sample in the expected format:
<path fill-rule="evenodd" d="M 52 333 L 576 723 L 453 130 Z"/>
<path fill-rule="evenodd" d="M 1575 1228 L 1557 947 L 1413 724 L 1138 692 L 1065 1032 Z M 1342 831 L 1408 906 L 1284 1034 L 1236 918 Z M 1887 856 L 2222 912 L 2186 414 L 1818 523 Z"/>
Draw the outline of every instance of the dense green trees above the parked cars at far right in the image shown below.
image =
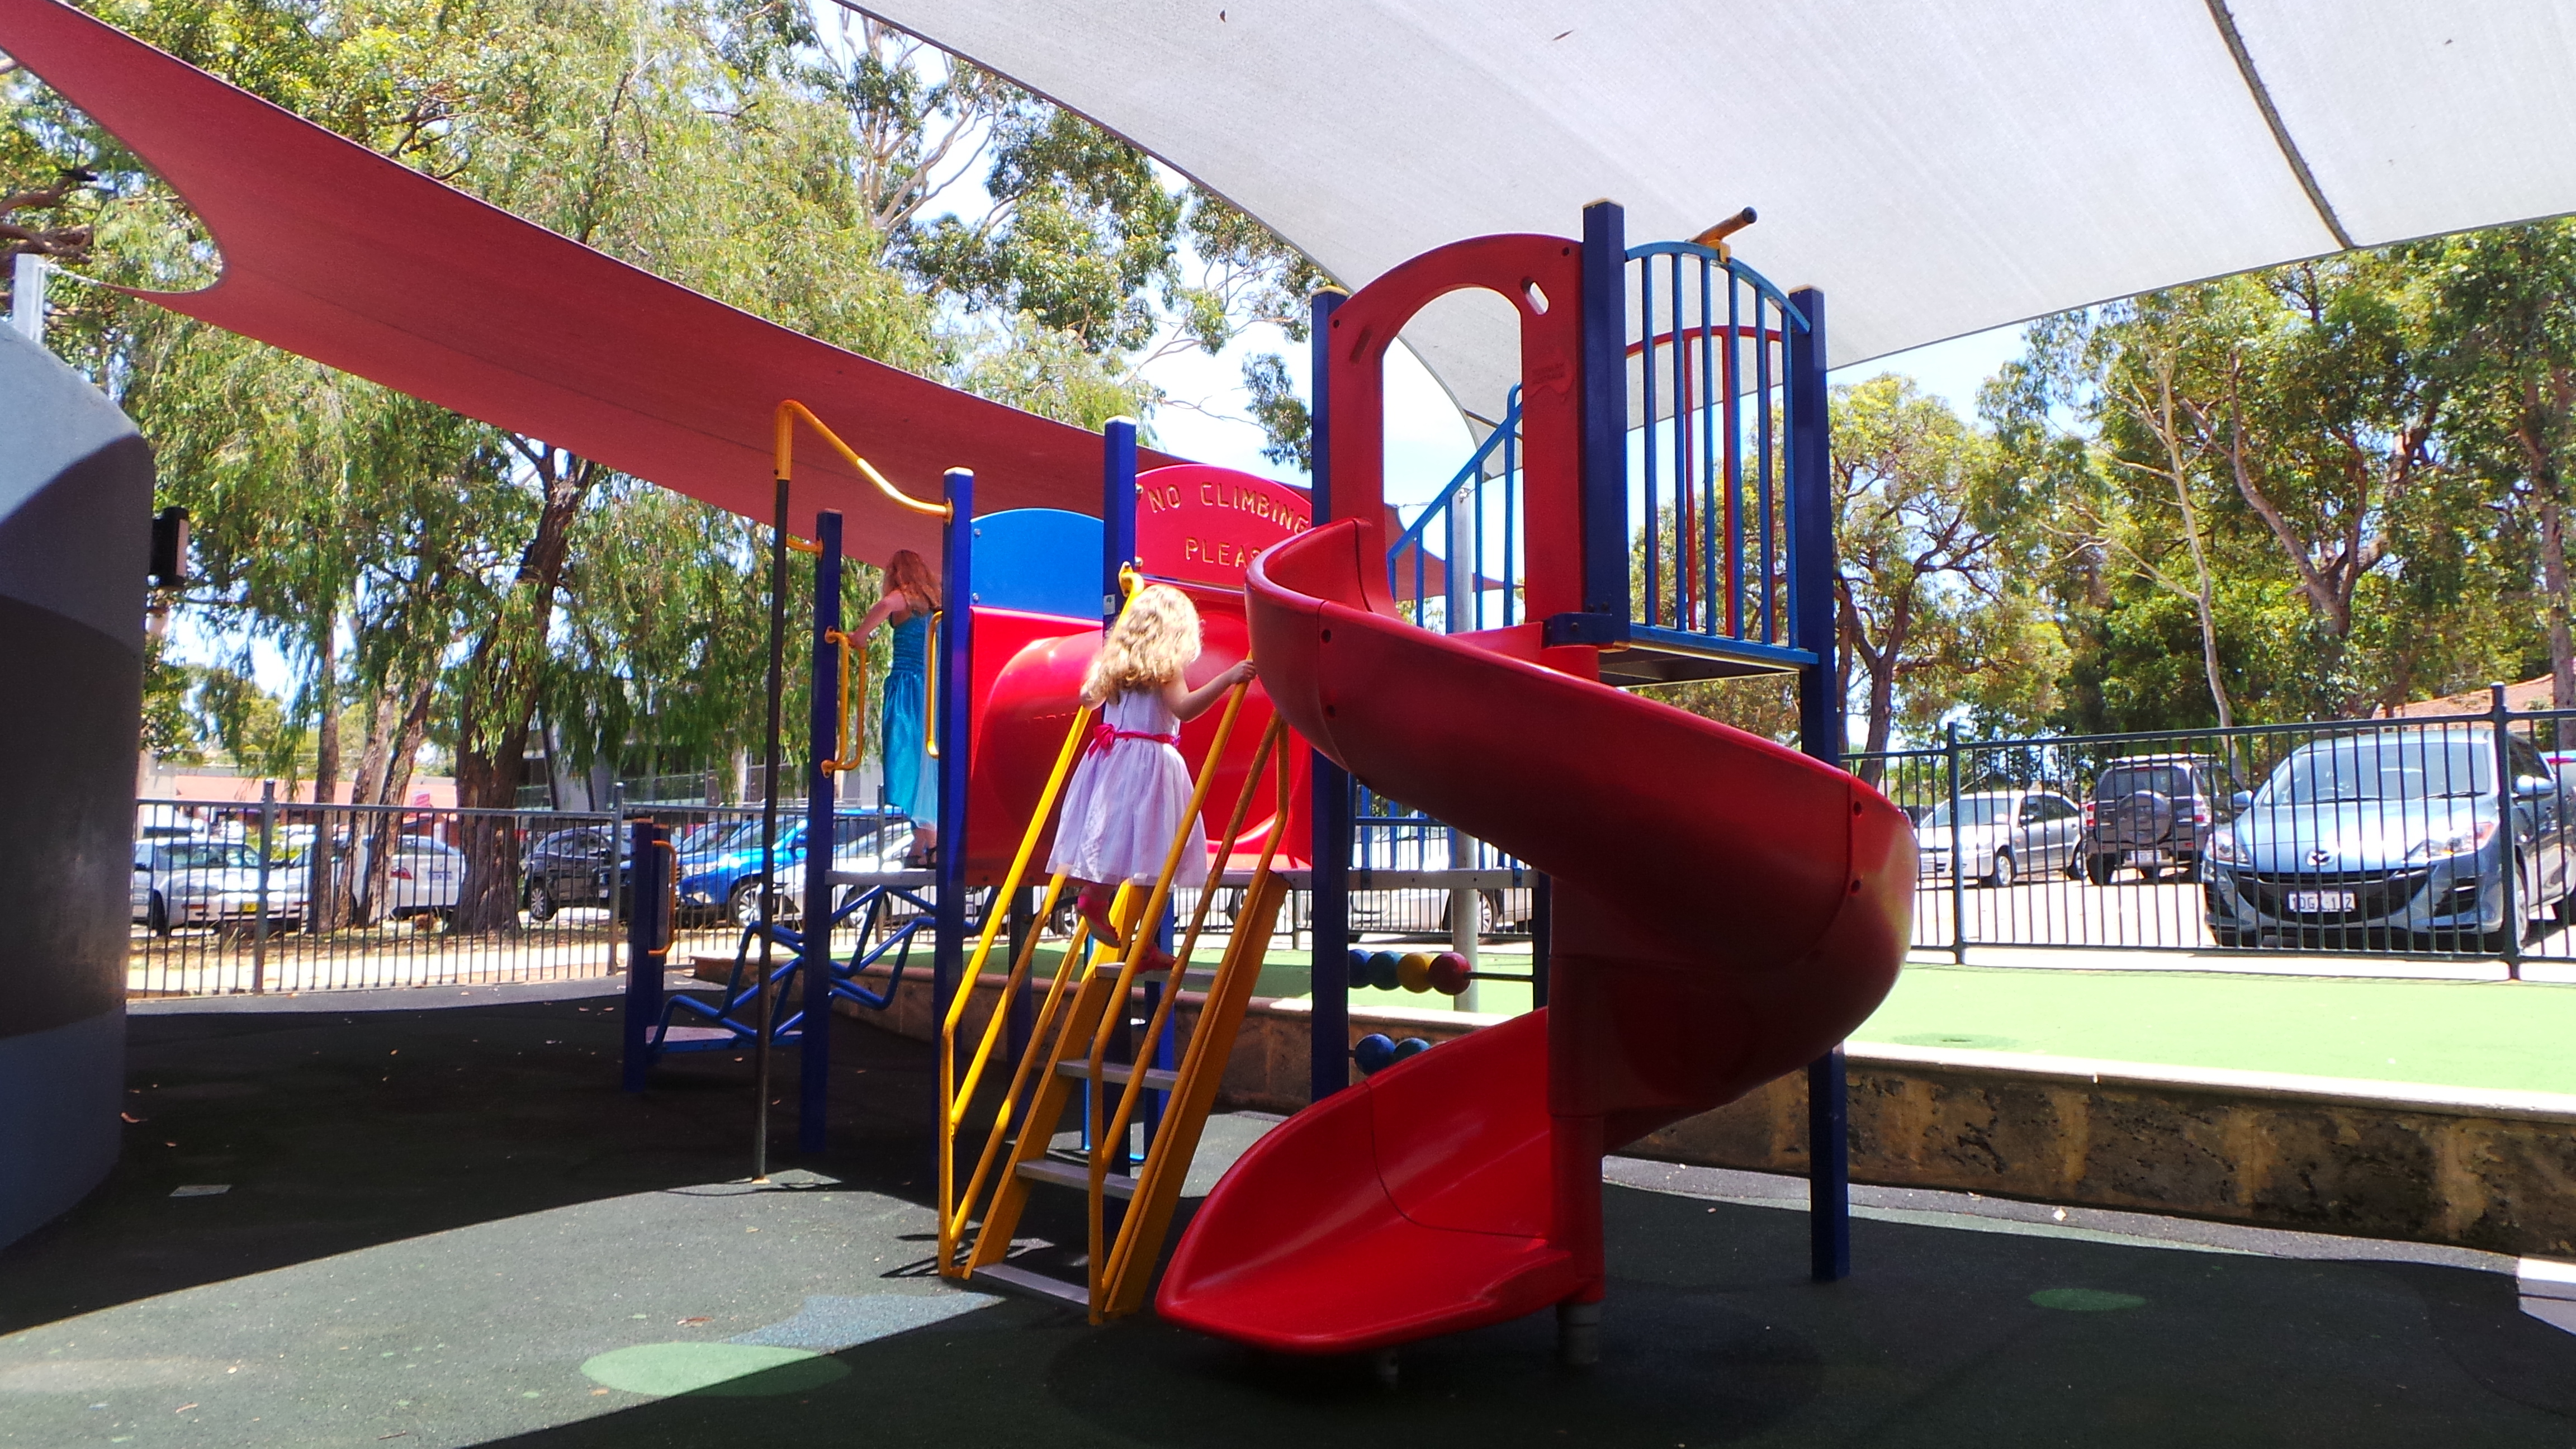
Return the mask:
<path fill-rule="evenodd" d="M 1984 415 L 2071 657 L 2056 722 L 2344 717 L 2563 660 L 2571 260 L 2548 222 L 2035 325 Z"/>

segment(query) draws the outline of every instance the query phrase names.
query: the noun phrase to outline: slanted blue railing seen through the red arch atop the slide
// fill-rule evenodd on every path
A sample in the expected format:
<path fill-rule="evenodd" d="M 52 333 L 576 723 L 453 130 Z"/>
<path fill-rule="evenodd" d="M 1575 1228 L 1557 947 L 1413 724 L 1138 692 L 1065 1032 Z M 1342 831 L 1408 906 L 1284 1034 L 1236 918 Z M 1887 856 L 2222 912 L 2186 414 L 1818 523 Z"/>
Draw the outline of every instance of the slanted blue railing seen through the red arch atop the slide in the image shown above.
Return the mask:
<path fill-rule="evenodd" d="M 1466 570 L 1463 583 L 1458 570 Z M 1386 549 L 1386 585 L 1425 629 L 1463 634 L 1520 624 L 1520 387 L 1484 443 Z M 1492 608 L 1486 596 L 1494 596 Z"/>

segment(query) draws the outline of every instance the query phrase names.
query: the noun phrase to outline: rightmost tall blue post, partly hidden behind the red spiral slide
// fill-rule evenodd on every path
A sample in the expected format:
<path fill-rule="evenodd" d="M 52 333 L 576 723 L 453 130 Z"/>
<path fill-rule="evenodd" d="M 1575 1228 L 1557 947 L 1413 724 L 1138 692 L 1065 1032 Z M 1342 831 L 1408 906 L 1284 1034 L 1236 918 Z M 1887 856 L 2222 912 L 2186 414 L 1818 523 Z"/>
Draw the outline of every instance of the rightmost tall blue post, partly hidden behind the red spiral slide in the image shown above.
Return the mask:
<path fill-rule="evenodd" d="M 1824 387 L 1824 294 L 1790 294 L 1806 330 L 1788 330 L 1788 562 L 1790 639 L 1816 655 L 1798 681 L 1798 743 L 1842 768 L 1842 670 L 1834 668 L 1834 480 Z M 1852 1274 L 1852 1165 L 1842 1047 L 1806 1067 L 1808 1269 L 1819 1284 Z"/>

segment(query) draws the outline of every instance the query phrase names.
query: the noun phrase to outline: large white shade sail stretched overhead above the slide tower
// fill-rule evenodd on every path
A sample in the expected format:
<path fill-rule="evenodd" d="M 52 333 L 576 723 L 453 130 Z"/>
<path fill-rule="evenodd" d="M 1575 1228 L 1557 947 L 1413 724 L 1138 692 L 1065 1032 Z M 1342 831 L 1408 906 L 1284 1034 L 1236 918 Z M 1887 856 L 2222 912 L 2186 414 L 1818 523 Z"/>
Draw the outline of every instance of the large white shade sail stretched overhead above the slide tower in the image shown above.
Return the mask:
<path fill-rule="evenodd" d="M 1440 242 L 1687 237 L 1832 299 L 1837 366 L 2344 245 L 2576 209 L 2553 0 L 868 0 L 1342 284 Z M 1406 343 L 1499 410 L 1510 315 Z"/>

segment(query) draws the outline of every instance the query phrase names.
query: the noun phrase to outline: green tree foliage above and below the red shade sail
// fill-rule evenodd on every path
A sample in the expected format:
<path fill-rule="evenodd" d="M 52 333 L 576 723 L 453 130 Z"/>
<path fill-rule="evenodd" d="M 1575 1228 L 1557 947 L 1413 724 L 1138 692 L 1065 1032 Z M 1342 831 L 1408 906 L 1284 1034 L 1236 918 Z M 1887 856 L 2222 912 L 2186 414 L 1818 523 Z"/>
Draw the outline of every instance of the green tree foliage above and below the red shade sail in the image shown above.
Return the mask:
<path fill-rule="evenodd" d="M 822 34 L 781 0 L 93 10 L 585 245 L 1084 428 L 1149 415 L 1146 361 L 1301 312 L 1314 276 L 1097 126 L 873 21 Z M 95 186 L 36 211 L 95 235 L 90 276 L 216 276 L 211 237 L 137 157 L 0 67 L 0 193 L 64 165 Z M 943 217 L 969 175 L 992 204 Z M 57 289 L 49 340 L 134 413 L 162 503 L 196 518 L 175 606 L 276 645 L 304 678 L 278 701 L 240 670 L 155 655 L 155 750 L 278 758 L 348 709 L 361 784 L 394 789 L 430 743 L 495 804 L 538 722 L 572 763 L 626 773 L 757 753 L 757 523 L 108 289 Z M 853 572 L 863 608 L 876 585 Z M 788 575 L 801 616 L 809 572 Z M 881 665 L 884 642 L 873 652 Z M 791 663 L 791 722 L 801 673 Z"/>

